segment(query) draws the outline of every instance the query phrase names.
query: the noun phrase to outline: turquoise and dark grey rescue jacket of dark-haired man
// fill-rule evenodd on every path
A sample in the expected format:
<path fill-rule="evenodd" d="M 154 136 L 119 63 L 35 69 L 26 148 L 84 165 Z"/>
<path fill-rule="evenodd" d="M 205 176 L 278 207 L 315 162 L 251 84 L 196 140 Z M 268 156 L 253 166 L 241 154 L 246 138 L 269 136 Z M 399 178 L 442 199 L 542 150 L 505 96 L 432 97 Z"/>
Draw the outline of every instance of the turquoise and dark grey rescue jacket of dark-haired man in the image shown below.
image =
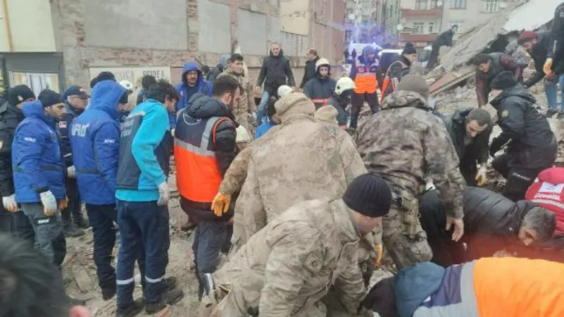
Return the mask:
<path fill-rule="evenodd" d="M 168 178 L 172 135 L 163 104 L 147 99 L 131 111 L 121 131 L 116 198 L 157 201 Z"/>

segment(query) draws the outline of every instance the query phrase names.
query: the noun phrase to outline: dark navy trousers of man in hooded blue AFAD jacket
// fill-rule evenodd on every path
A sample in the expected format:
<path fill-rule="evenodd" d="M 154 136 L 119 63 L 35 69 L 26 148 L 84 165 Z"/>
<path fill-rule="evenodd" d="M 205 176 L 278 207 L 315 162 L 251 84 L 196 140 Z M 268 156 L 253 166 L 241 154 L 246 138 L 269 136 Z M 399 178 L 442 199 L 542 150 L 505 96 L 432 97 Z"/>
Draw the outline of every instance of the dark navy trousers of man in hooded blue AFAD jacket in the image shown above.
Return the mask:
<path fill-rule="evenodd" d="M 116 205 L 86 204 L 86 211 L 94 232 L 94 263 L 100 288 L 116 287 L 116 270 L 111 266 L 111 251 L 116 245 L 116 228 L 118 221 Z"/>

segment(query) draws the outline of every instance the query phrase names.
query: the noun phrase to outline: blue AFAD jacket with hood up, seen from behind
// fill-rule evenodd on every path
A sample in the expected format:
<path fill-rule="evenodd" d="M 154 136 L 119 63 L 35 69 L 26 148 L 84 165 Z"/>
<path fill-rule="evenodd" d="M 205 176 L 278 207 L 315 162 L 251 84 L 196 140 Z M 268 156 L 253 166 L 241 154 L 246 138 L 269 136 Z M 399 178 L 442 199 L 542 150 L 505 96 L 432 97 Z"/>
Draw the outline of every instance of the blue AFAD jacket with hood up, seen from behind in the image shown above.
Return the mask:
<path fill-rule="evenodd" d="M 113 80 L 92 90 L 90 107 L 71 126 L 71 145 L 80 197 L 86 204 L 116 203 L 120 128 L 118 101 L 125 88 Z"/>

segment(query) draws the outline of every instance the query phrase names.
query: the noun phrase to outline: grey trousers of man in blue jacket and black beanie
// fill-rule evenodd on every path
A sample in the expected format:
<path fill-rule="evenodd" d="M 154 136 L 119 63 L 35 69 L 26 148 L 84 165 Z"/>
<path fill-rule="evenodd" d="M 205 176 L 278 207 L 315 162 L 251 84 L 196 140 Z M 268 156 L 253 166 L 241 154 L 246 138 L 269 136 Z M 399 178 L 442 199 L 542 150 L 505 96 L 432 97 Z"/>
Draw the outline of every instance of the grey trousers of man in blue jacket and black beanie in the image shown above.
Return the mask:
<path fill-rule="evenodd" d="M 59 236 L 63 229 L 59 211 L 57 211 L 56 216 L 47 217 L 45 216 L 41 203 L 22 204 L 22 211 L 30 220 L 33 231 L 35 232 L 35 249 L 40 251 L 44 256 L 47 256 L 47 259 L 52 263 L 60 261 L 56 250 L 61 247 L 59 247 L 57 243 L 53 245 L 53 242 L 60 241 Z"/>

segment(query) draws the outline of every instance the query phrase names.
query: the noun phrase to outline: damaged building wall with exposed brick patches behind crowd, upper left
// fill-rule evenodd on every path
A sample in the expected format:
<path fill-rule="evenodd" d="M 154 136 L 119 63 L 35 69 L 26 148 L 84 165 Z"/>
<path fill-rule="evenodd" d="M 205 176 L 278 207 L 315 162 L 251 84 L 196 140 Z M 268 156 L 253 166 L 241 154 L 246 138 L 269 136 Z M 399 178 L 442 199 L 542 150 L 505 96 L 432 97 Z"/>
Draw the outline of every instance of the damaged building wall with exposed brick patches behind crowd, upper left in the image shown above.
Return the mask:
<path fill-rule="evenodd" d="M 185 61 L 213 67 L 240 46 L 256 80 L 280 42 L 298 80 L 309 47 L 342 59 L 345 0 L 5 0 L 4 84 L 35 92 L 89 87 L 102 70 L 139 85 L 142 75 L 180 81 Z M 50 14 L 49 14 L 50 13 Z"/>

